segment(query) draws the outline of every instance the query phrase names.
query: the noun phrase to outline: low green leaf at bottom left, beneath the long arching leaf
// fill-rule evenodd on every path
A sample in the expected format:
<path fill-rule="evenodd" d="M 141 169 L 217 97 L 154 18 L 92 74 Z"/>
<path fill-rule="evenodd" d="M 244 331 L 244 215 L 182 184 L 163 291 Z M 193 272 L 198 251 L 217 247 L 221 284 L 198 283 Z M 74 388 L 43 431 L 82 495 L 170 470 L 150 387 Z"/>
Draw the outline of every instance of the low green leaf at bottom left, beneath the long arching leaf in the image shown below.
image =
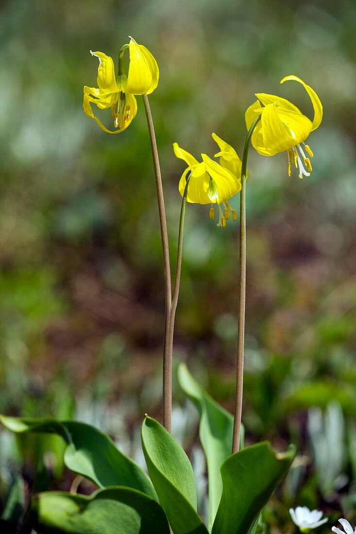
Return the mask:
<path fill-rule="evenodd" d="M 169 534 L 159 504 L 140 491 L 105 488 L 90 497 L 46 491 L 32 498 L 29 514 L 41 534 Z"/>

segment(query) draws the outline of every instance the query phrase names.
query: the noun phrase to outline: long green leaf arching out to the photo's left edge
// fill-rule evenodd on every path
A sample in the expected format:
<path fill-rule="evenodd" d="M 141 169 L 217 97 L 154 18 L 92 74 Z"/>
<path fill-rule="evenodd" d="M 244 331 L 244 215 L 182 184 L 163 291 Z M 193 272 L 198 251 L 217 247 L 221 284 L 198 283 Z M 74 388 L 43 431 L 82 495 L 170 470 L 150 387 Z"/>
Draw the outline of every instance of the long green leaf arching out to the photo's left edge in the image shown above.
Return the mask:
<path fill-rule="evenodd" d="M 68 469 L 89 478 L 99 488 L 127 486 L 157 500 L 149 477 L 133 460 L 122 454 L 109 436 L 86 423 L 0 416 L 13 432 L 58 434 L 67 443 L 64 462 Z"/>

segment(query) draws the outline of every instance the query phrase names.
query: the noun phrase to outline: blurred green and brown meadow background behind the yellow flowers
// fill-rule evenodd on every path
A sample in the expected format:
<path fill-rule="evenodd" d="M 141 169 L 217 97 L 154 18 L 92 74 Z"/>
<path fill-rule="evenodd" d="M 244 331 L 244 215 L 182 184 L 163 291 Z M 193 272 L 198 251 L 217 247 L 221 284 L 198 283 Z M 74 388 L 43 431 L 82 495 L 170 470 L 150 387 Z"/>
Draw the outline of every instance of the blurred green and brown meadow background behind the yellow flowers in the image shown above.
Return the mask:
<path fill-rule="evenodd" d="M 143 413 L 160 417 L 164 290 L 144 110 L 137 97 L 137 116 L 118 136 L 84 115 L 82 88 L 96 85 L 97 73 L 89 50 L 116 64 L 132 35 L 158 61 L 160 82 L 150 102 L 173 268 L 184 165 L 172 143 L 212 155 L 215 131 L 241 155 L 244 112 L 256 92 L 281 95 L 312 116 L 301 86 L 279 84 L 296 74 L 318 92 L 324 118 L 308 139 L 309 178 L 288 177 L 286 154 L 250 152 L 243 420 L 248 442 L 297 443 L 301 467 L 285 489 L 291 504 L 299 492 L 301 504 L 338 509 L 343 496 L 351 510 L 356 3 L 3 0 L 0 6 L 0 411 L 74 415 L 110 431 L 128 450 Z M 237 208 L 237 197 L 232 204 Z M 238 222 L 221 230 L 206 207 L 188 206 L 175 334 L 176 362 L 187 360 L 230 410 L 237 236 Z M 174 400 L 184 403 L 177 386 Z M 184 410 L 176 412 L 177 433 Z M 326 422 L 343 428 L 342 460 L 331 482 L 320 481 L 327 445 L 324 464 L 311 446 L 313 429 L 323 435 L 325 410 Z M 308 431 L 313 417 L 319 423 Z M 326 423 L 326 434 L 334 423 Z"/>

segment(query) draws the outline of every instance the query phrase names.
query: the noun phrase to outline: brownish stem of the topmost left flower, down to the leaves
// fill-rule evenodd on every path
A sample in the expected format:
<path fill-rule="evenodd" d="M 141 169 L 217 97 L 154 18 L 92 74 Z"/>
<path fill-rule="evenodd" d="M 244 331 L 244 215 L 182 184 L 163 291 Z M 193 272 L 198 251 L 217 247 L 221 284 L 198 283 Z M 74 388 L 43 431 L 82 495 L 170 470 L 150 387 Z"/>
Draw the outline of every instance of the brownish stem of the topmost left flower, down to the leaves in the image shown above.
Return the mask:
<path fill-rule="evenodd" d="M 156 177 L 157 200 L 159 211 L 159 223 L 161 227 L 161 240 L 164 262 L 165 277 L 165 331 L 164 331 L 164 349 L 163 349 L 163 425 L 171 432 L 172 426 L 172 349 L 168 339 L 168 327 L 171 317 L 172 303 L 172 282 L 171 282 L 171 265 L 169 262 L 168 233 L 166 222 L 166 211 L 162 189 L 162 178 L 158 159 L 158 150 L 156 136 L 154 135 L 153 120 L 151 115 L 150 104 L 147 95 L 143 96 L 146 119 L 151 140 L 154 176 Z"/>

